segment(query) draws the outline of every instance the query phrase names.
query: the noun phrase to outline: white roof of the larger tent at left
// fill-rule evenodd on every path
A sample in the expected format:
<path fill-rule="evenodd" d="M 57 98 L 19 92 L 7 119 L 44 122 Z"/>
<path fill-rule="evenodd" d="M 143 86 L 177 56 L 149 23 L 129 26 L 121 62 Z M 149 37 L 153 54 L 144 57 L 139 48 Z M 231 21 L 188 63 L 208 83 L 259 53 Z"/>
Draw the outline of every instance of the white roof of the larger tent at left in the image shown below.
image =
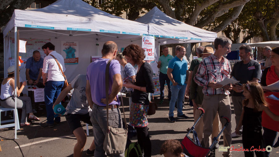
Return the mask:
<path fill-rule="evenodd" d="M 111 15 L 81 0 L 58 0 L 35 10 L 15 10 L 3 35 L 13 27 L 73 30 L 125 35 L 148 34 L 146 24 Z"/>

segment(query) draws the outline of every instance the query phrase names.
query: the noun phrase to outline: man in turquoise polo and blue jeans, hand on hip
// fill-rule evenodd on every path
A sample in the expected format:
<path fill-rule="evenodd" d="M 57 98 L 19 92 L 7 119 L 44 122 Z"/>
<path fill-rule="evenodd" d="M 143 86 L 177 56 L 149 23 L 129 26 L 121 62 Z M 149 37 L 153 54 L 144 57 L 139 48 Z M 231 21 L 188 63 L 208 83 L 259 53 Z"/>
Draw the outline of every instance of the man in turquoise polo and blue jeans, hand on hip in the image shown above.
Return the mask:
<path fill-rule="evenodd" d="M 186 89 L 186 71 L 188 70 L 187 61 L 183 59 L 186 53 L 184 47 L 177 47 L 177 55 L 169 61 L 167 75 L 169 77 L 170 88 L 172 90 L 171 101 L 169 102 L 169 121 L 175 122 L 173 110 L 177 101 L 177 118 L 188 119 L 182 112 L 182 101 Z"/>

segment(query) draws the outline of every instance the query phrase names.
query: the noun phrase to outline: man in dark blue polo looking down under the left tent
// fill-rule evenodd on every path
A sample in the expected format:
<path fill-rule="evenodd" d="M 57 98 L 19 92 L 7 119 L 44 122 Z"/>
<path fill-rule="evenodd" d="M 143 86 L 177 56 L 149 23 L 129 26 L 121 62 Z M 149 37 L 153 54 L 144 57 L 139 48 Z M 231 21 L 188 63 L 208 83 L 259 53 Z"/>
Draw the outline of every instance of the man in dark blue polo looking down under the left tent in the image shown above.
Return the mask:
<path fill-rule="evenodd" d="M 41 58 L 39 51 L 34 51 L 33 56 L 28 58 L 26 61 L 26 80 L 28 85 L 37 84 L 42 76 L 44 59 Z M 41 79 L 41 82 L 43 80 Z"/>

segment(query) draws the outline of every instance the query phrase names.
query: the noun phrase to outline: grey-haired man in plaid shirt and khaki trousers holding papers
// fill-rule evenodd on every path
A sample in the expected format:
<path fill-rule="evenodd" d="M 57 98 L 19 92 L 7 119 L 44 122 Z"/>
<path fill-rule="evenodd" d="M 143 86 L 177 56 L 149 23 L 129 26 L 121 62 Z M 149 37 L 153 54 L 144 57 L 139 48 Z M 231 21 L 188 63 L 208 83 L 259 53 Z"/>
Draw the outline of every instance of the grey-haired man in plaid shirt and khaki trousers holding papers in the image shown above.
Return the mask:
<path fill-rule="evenodd" d="M 202 101 L 202 108 L 204 113 L 204 129 L 203 139 L 205 147 L 211 145 L 212 124 L 217 111 L 219 116 L 226 116 L 231 121 L 231 101 L 229 97 L 229 90 L 232 85 L 220 85 L 218 82 L 225 78 L 230 78 L 231 65 L 230 62 L 223 56 L 227 56 L 231 52 L 231 40 L 227 37 L 218 37 L 214 41 L 215 53 L 207 58 L 204 58 L 199 65 L 198 72 L 194 77 L 194 81 L 202 86 L 204 97 Z M 226 120 L 220 118 L 222 127 Z M 224 146 L 231 147 L 231 123 L 226 127 L 224 134 Z M 231 156 L 230 149 L 223 152 L 223 156 Z"/>

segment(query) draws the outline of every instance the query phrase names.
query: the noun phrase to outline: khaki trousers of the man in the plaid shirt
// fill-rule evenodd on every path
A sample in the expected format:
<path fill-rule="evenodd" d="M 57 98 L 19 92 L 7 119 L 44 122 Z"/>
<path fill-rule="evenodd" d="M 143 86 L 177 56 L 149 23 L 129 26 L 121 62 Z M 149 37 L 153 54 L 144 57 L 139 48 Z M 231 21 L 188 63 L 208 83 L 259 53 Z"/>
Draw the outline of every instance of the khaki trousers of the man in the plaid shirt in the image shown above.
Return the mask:
<path fill-rule="evenodd" d="M 211 134 L 213 120 L 218 112 L 219 116 L 226 116 L 229 118 L 230 123 L 223 131 L 224 147 L 231 147 L 231 101 L 230 97 L 225 94 L 216 94 L 212 96 L 204 95 L 202 101 L 202 108 L 204 109 L 203 118 L 203 140 L 205 147 L 211 145 Z M 226 124 L 226 119 L 220 118 L 222 128 Z M 223 152 L 223 156 L 231 156 L 230 149 L 227 152 Z"/>

